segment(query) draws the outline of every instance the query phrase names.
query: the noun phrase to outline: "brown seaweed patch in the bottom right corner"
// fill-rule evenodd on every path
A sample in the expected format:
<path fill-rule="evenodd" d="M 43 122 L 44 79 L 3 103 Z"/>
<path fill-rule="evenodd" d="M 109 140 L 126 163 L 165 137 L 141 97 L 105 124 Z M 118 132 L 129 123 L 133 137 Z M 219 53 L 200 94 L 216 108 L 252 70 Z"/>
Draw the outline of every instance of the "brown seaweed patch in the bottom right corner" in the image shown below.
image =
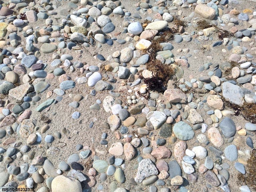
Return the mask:
<path fill-rule="evenodd" d="M 238 174 L 238 180 L 242 185 L 247 185 L 251 191 L 256 191 L 256 150 L 252 150 L 251 157 L 247 161 L 246 174 Z"/>

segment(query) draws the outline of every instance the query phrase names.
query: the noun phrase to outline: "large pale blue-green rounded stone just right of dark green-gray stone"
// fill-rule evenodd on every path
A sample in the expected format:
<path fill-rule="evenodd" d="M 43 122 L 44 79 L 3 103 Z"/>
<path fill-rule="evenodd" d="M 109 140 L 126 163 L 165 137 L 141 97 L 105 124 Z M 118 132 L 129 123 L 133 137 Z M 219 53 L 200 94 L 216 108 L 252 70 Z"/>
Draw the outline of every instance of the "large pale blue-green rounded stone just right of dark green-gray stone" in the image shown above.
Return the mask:
<path fill-rule="evenodd" d="M 195 133 L 191 126 L 189 126 L 184 121 L 180 121 L 175 123 L 173 127 L 173 132 L 176 137 L 180 140 L 187 141 L 194 137 Z"/>

